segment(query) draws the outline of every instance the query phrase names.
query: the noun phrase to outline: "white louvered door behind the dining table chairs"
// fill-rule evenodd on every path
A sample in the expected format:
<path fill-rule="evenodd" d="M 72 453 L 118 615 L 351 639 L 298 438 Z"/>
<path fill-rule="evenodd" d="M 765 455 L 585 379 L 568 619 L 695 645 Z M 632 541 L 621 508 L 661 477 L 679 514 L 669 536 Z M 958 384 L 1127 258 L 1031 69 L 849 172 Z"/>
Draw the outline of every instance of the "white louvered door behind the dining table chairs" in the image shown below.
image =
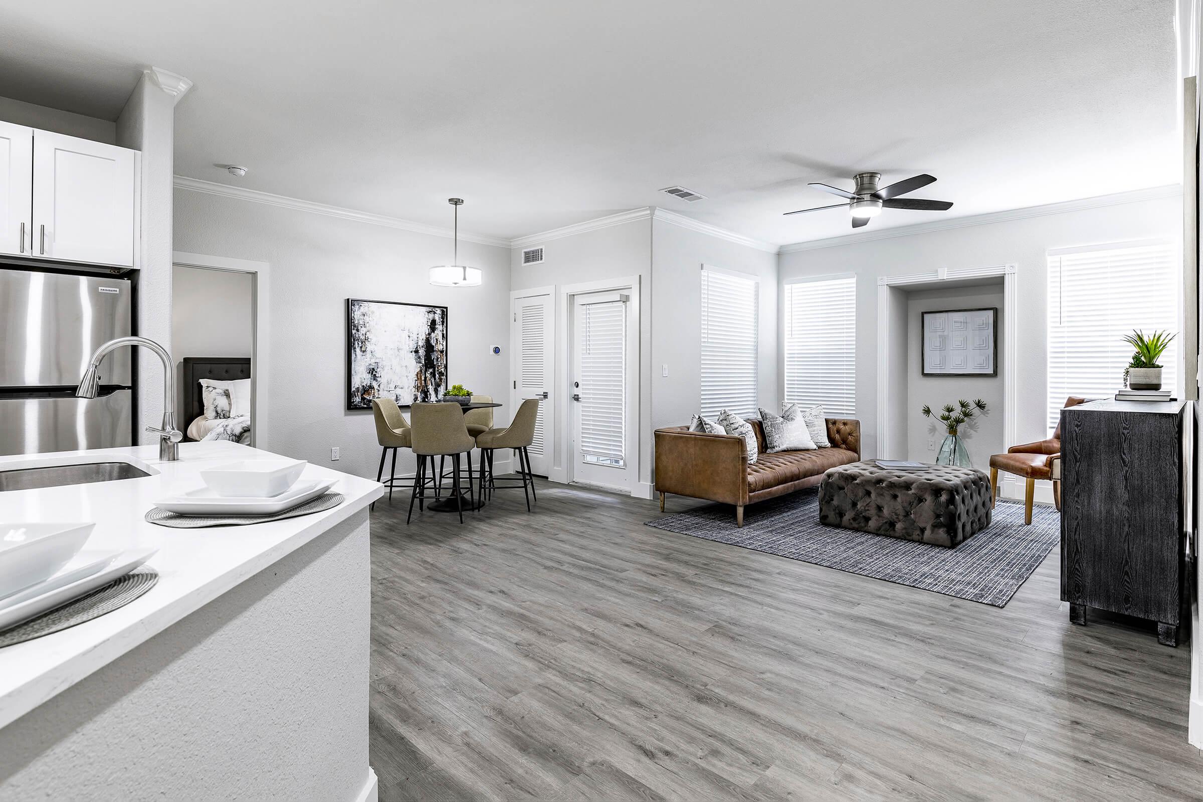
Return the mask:
<path fill-rule="evenodd" d="M 527 398 L 539 398 L 539 417 L 534 424 L 534 440 L 527 453 L 531 456 L 532 473 L 546 476 L 551 473 L 555 441 L 555 394 L 552 374 L 556 338 L 551 293 L 514 298 L 514 390 L 511 410 Z"/>

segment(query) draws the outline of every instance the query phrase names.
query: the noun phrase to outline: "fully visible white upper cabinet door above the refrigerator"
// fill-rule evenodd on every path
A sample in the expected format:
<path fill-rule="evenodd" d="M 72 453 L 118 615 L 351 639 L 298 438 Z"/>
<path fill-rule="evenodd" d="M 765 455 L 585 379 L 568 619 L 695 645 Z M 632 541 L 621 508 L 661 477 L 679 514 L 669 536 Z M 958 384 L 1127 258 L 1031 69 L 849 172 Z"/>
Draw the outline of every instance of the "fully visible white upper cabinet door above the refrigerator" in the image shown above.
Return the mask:
<path fill-rule="evenodd" d="M 34 256 L 134 266 L 138 153 L 34 131 Z"/>

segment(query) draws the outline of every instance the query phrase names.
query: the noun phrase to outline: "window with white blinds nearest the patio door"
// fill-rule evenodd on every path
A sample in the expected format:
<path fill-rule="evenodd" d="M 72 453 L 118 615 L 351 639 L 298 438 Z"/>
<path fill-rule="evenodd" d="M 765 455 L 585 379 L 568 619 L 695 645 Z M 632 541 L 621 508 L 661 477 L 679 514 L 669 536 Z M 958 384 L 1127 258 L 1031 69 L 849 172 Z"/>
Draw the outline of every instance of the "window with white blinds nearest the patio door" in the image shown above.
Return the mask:
<path fill-rule="evenodd" d="M 701 271 L 701 414 L 754 417 L 759 283 Z"/>

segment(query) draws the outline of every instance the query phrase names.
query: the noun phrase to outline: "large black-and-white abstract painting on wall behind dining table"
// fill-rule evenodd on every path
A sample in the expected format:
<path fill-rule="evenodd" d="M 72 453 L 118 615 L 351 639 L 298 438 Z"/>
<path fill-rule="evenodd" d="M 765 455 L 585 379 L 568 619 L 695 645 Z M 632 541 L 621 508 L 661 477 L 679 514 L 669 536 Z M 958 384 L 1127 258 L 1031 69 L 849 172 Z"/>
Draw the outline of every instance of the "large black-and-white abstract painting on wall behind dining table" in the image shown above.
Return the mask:
<path fill-rule="evenodd" d="M 437 402 L 446 387 L 446 307 L 346 299 L 346 409 Z"/>

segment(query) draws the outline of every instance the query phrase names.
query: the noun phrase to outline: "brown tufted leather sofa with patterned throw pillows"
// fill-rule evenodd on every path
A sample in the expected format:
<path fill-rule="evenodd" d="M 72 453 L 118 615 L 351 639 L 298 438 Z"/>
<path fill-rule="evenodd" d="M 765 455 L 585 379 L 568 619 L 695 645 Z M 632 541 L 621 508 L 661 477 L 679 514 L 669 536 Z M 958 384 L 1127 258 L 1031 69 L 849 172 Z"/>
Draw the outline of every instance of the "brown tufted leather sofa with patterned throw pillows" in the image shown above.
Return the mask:
<path fill-rule="evenodd" d="M 664 495 L 688 495 L 735 506 L 735 523 L 743 525 L 748 504 L 814 487 L 823 471 L 860 461 L 860 421 L 826 418 L 830 448 L 765 453 L 764 427 L 755 429 L 760 456 L 748 464 L 743 438 L 735 434 L 689 432 L 687 426 L 656 429 L 656 489 Z"/>

